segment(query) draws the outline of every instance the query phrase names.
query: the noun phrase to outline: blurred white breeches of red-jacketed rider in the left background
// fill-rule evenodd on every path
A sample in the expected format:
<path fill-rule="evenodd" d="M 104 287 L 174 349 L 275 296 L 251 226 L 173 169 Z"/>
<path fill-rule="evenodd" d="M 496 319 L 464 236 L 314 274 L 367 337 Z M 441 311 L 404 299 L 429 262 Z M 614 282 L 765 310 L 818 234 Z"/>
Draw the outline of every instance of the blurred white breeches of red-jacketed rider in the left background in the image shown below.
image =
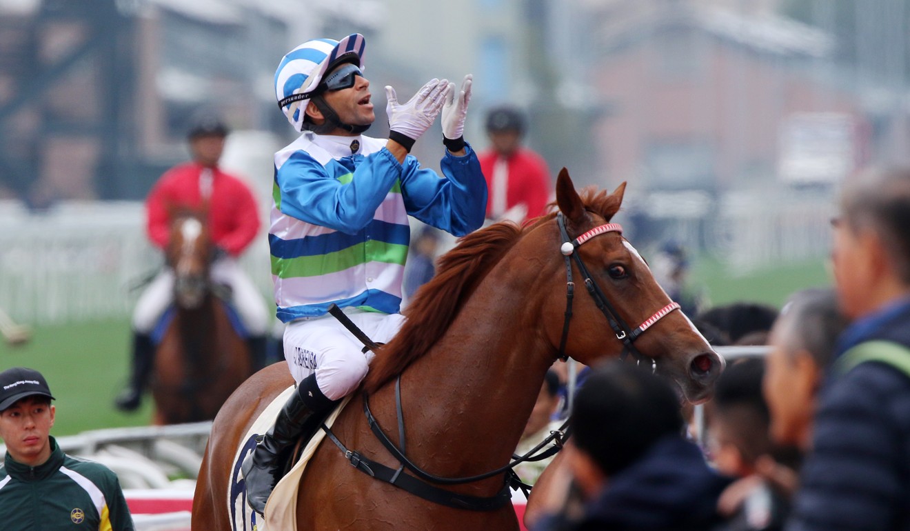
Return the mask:
<path fill-rule="evenodd" d="M 231 290 L 231 303 L 250 337 L 265 335 L 270 325 L 265 301 L 256 286 L 233 258 L 212 263 L 211 280 Z M 167 306 L 174 301 L 174 271 L 165 268 L 148 284 L 133 311 L 133 330 L 151 333 Z"/>

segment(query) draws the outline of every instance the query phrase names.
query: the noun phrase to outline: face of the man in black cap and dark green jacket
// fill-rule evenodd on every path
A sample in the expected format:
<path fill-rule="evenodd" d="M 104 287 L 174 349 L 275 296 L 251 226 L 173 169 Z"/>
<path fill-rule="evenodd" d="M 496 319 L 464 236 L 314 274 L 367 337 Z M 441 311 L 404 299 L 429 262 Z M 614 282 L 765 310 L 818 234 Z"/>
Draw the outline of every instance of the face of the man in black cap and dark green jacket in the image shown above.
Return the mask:
<path fill-rule="evenodd" d="M 40 396 L 26 396 L 0 412 L 0 437 L 13 459 L 29 466 L 47 461 L 54 414 L 54 406 Z"/>

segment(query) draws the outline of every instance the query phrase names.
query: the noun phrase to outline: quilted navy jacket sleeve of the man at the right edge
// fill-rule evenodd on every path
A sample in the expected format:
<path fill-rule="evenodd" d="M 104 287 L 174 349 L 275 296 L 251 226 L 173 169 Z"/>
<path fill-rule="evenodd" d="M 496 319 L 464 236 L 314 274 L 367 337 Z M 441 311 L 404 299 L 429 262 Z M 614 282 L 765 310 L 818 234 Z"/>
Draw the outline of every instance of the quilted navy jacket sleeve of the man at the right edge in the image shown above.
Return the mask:
<path fill-rule="evenodd" d="M 819 398 L 788 531 L 893 529 L 905 511 L 910 381 L 862 363 Z"/>

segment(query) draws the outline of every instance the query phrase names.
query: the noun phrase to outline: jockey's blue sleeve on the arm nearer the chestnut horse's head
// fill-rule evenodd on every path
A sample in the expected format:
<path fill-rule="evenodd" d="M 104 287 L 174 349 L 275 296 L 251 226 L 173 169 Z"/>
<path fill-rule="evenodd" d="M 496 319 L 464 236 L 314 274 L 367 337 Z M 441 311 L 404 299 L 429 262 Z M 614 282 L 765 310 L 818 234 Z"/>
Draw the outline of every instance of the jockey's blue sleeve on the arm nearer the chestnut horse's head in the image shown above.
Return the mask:
<path fill-rule="evenodd" d="M 462 157 L 446 150 L 440 167 L 442 177 L 429 168 L 420 168 L 417 158 L 405 159 L 401 193 L 408 213 L 455 236 L 480 229 L 487 211 L 487 181 L 480 161 L 470 146 Z"/>

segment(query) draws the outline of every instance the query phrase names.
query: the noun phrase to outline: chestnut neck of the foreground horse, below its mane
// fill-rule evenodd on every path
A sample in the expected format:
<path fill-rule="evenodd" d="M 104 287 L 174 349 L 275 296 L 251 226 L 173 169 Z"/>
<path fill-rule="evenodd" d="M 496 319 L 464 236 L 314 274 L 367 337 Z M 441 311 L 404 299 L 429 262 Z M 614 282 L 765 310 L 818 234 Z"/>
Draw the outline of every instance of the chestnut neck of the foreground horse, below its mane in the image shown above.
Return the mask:
<path fill-rule="evenodd" d="M 423 462 L 434 466 L 449 463 L 450 470 L 440 468 L 440 474 L 471 475 L 504 465 L 553 362 L 552 344 L 535 317 L 542 301 L 531 299 L 532 288 L 558 271 L 534 269 L 511 254 L 480 282 L 440 341 L 402 376 L 402 393 L 413 386 L 410 403 L 420 404 L 413 412 L 421 424 L 417 452 L 426 452 L 423 457 L 431 461 Z"/>

